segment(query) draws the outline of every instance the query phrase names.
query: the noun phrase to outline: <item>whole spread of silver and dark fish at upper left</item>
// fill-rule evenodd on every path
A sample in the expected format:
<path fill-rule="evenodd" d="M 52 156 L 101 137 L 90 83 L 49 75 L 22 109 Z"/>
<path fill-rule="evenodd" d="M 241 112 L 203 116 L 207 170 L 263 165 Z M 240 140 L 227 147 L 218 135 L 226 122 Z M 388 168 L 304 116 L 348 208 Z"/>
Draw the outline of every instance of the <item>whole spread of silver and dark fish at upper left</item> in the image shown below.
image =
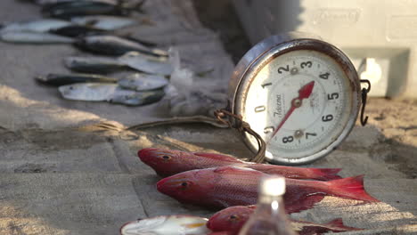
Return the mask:
<path fill-rule="evenodd" d="M 12 43 L 72 44 L 86 52 L 119 57 L 65 58 L 64 65 L 77 73 L 48 74 L 38 82 L 59 86 L 63 98 L 76 101 L 109 101 L 130 106 L 159 101 L 173 71 L 168 52 L 150 42 L 129 36 L 109 35 L 110 31 L 149 20 L 142 14 L 136 20 L 115 15 L 140 10 L 141 1 L 119 0 L 34 0 L 48 17 L 4 23 L 0 39 Z M 116 79 L 104 77 L 118 71 L 139 73 Z M 87 74 L 88 73 L 88 74 Z M 91 74 L 90 74 L 91 73 Z"/>

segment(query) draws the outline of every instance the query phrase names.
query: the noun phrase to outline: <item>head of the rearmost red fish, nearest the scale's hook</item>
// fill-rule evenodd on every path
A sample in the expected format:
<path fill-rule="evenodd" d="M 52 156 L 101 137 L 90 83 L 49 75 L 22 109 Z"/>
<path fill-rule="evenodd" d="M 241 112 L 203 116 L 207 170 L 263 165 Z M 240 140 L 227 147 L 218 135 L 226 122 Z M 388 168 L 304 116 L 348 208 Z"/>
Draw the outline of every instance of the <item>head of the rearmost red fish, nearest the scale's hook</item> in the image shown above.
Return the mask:
<path fill-rule="evenodd" d="M 180 164 L 181 151 L 162 149 L 143 149 L 137 152 L 144 164 L 151 166 L 160 176 L 176 174 L 176 165 Z"/>

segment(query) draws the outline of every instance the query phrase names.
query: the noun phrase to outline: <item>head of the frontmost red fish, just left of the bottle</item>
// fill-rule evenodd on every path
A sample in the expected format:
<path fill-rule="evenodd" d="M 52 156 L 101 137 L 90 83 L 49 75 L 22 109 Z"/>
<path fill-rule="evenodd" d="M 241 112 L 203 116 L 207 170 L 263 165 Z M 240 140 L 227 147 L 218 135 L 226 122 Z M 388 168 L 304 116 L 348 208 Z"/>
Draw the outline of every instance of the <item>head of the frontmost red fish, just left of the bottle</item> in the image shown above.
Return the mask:
<path fill-rule="evenodd" d="M 211 231 L 232 231 L 232 234 L 237 234 L 254 209 L 244 206 L 227 207 L 211 216 L 207 227 Z"/>

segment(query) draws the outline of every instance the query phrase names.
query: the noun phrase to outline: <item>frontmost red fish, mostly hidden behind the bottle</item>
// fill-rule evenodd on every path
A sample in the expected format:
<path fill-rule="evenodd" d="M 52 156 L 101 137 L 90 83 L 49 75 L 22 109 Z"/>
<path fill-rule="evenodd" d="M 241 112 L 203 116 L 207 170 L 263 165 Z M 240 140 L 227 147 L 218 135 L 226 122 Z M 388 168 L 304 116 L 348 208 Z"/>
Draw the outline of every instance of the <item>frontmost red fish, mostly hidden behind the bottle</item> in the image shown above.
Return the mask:
<path fill-rule="evenodd" d="M 241 227 L 255 211 L 256 206 L 227 207 L 217 212 L 208 219 L 207 227 L 210 231 L 224 232 L 228 235 L 237 235 Z M 361 229 L 347 227 L 341 219 L 335 219 L 329 223 L 317 224 L 303 221 L 291 220 L 291 227 L 299 235 L 323 234 L 324 232 L 357 231 Z"/>

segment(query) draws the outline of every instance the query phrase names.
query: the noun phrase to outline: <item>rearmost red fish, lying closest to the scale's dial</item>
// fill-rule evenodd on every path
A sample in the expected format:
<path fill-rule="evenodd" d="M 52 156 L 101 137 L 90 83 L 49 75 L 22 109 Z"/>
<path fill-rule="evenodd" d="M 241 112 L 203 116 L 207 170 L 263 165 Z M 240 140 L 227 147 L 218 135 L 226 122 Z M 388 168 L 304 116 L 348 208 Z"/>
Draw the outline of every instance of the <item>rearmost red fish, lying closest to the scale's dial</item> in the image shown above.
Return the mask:
<path fill-rule="evenodd" d="M 190 170 L 233 165 L 248 167 L 266 174 L 281 174 L 286 178 L 292 179 L 329 181 L 341 178 L 337 175 L 340 171 L 339 168 L 303 168 L 255 164 L 214 153 L 143 149 L 139 150 L 137 155 L 141 158 L 143 163 L 151 166 L 155 172 L 162 177 Z"/>

